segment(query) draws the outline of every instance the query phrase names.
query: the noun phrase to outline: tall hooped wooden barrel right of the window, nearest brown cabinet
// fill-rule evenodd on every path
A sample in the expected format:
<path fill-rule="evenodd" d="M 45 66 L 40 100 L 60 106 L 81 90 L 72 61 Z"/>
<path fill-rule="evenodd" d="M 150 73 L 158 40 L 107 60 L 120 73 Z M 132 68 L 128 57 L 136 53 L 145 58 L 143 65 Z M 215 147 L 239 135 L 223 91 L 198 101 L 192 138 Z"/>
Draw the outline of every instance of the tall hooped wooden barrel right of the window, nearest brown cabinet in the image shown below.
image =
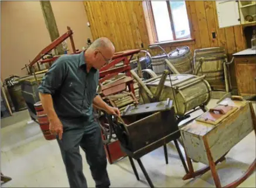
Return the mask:
<path fill-rule="evenodd" d="M 202 68 L 198 75 L 206 75 L 206 80 L 213 89 L 224 89 L 224 66 L 227 55 L 224 47 L 212 47 L 194 50 L 194 67 L 199 63 L 199 58 L 204 57 Z"/>

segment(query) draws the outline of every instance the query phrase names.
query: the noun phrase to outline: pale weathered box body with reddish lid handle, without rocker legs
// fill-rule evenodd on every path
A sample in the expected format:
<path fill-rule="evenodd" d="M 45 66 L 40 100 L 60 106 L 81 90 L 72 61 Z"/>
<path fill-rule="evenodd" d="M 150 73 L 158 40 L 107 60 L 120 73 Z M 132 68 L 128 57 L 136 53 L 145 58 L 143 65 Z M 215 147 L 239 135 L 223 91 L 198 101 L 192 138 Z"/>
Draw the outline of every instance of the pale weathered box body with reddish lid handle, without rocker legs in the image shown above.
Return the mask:
<path fill-rule="evenodd" d="M 209 165 L 208 142 L 216 162 L 253 130 L 250 102 L 227 98 L 181 130 L 187 156 Z"/>

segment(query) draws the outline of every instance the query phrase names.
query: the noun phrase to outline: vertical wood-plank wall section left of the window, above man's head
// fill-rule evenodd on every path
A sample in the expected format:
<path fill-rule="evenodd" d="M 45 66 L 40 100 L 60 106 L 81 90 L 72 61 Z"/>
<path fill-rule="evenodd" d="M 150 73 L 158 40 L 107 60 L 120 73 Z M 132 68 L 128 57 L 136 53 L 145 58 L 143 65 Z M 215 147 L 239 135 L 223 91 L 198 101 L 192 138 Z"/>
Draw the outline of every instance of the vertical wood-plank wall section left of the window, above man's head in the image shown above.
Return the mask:
<path fill-rule="evenodd" d="M 149 44 L 142 1 L 84 1 L 93 39 L 108 37 L 116 51 Z"/>

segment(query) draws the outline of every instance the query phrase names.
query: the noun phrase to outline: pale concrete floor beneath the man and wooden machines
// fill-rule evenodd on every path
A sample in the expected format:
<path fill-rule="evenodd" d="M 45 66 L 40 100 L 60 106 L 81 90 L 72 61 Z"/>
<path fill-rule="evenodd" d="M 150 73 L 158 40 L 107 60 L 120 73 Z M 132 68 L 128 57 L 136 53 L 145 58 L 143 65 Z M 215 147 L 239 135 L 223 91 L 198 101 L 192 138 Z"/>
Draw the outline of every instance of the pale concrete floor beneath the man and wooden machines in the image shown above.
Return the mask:
<path fill-rule="evenodd" d="M 207 107 L 216 105 L 211 100 Z M 254 109 L 255 109 L 254 102 Z M 192 114 L 198 116 L 202 111 Z M 29 123 L 25 110 L 13 117 L 1 119 L 1 172 L 11 176 L 11 182 L 1 187 L 69 187 L 66 171 L 56 141 L 46 141 L 38 124 Z M 226 161 L 217 166 L 221 184 L 226 185 L 237 179 L 255 158 L 255 134 L 252 132 L 239 142 L 226 156 Z M 183 154 L 184 151 L 182 150 Z M 89 187 L 95 187 L 90 170 L 84 161 L 84 174 Z M 142 158 L 142 162 L 155 187 L 215 187 L 210 171 L 195 179 L 182 180 L 185 175 L 182 162 L 172 142 L 168 144 L 169 164 L 165 164 L 163 148 L 156 149 Z M 111 187 L 149 187 L 138 169 L 140 181 L 136 180 L 128 158 L 109 165 Z M 194 170 L 202 168 L 202 163 L 193 163 Z M 256 187 L 255 172 L 239 187 Z"/>

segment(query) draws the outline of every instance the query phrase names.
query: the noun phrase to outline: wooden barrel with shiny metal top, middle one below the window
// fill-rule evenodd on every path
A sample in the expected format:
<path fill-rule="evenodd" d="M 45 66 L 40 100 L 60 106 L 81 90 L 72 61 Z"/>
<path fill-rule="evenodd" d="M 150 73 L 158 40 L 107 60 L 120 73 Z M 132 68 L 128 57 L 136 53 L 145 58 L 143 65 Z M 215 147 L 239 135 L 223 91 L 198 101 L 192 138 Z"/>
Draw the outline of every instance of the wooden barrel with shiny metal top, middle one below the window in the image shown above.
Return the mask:
<path fill-rule="evenodd" d="M 180 74 L 192 74 L 193 54 L 188 46 L 176 48 L 168 54 L 168 60 Z"/>

